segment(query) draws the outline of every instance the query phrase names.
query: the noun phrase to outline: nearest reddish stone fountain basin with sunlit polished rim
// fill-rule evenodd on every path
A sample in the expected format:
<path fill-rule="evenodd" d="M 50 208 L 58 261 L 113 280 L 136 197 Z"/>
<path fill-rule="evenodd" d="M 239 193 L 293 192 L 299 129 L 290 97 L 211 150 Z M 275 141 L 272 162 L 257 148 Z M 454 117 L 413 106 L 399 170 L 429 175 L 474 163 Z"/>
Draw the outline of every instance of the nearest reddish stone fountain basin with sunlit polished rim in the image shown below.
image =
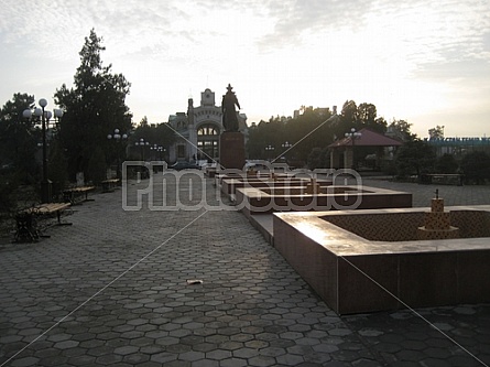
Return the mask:
<path fill-rule="evenodd" d="M 274 247 L 338 314 L 490 302 L 490 206 L 447 209 L 460 238 L 418 240 L 426 208 L 274 213 Z"/>

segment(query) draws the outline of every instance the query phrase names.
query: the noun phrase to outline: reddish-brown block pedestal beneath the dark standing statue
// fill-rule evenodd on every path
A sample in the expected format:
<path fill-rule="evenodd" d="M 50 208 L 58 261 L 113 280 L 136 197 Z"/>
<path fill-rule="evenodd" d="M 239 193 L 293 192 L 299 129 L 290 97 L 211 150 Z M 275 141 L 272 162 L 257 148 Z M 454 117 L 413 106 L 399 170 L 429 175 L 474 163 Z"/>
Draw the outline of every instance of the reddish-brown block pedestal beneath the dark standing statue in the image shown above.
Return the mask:
<path fill-rule="evenodd" d="M 225 131 L 219 137 L 219 164 L 221 170 L 244 166 L 244 138 L 238 131 Z"/>

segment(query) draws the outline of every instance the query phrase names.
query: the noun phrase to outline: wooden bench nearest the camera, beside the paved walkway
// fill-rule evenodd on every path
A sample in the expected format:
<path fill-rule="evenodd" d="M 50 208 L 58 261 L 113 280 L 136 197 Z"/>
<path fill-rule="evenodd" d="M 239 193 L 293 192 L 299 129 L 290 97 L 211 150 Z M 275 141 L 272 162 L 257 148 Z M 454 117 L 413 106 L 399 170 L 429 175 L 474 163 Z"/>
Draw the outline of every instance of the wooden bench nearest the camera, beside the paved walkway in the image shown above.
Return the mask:
<path fill-rule="evenodd" d="M 50 203 L 19 211 L 15 215 L 17 231 L 14 241 L 36 242 L 40 237 L 50 237 L 41 233 L 39 220 L 42 216 L 56 214 L 57 225 L 72 225 L 72 223 L 62 223 L 62 212 L 70 205 L 70 203 Z"/>

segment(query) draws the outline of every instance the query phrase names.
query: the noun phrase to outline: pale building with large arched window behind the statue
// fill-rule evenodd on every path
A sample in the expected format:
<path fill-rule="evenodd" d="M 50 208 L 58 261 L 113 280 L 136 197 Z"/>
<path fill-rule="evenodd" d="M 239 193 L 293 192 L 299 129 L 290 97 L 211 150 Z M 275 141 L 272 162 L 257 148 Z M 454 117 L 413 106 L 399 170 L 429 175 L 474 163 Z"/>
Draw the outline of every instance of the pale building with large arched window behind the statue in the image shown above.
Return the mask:
<path fill-rule="evenodd" d="M 168 123 L 177 132 L 175 143 L 167 149 L 170 162 L 193 160 L 219 160 L 219 136 L 225 131 L 221 106 L 216 106 L 215 93 L 206 88 L 200 94 L 200 105 L 187 101 L 187 112 L 168 117 Z M 238 114 L 239 131 L 248 137 L 247 115 Z"/>

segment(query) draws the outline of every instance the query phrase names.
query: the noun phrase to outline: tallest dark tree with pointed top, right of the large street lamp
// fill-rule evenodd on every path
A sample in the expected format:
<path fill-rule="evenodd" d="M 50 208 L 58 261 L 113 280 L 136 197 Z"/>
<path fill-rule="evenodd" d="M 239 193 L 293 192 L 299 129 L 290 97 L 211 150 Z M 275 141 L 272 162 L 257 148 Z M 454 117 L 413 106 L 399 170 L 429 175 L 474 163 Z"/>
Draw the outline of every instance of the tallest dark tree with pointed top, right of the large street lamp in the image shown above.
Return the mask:
<path fill-rule="evenodd" d="M 74 87 L 63 84 L 55 94 L 56 104 L 65 109 L 59 132 L 72 179 L 84 172 L 86 179 L 99 180 L 100 165 L 110 154 L 107 134 L 115 129 L 121 133 L 132 129 L 132 115 L 126 105 L 131 84 L 122 74 L 111 74 L 111 65 L 102 65 L 101 52 L 106 48 L 101 42 L 92 29 L 79 52 L 81 64 Z M 96 148 L 100 149 L 97 153 Z"/>

